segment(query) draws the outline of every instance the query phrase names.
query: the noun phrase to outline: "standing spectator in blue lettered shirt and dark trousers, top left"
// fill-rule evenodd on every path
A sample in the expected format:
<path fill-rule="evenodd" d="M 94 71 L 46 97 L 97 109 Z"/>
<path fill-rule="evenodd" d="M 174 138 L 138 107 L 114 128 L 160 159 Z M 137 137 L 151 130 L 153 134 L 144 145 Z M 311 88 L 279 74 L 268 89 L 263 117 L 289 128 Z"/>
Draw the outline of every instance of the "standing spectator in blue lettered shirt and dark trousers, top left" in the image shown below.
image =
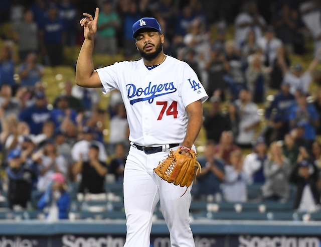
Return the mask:
<path fill-rule="evenodd" d="M 46 17 L 39 26 L 41 51 L 46 65 L 57 66 L 63 63 L 64 20 L 58 9 L 51 5 Z"/>

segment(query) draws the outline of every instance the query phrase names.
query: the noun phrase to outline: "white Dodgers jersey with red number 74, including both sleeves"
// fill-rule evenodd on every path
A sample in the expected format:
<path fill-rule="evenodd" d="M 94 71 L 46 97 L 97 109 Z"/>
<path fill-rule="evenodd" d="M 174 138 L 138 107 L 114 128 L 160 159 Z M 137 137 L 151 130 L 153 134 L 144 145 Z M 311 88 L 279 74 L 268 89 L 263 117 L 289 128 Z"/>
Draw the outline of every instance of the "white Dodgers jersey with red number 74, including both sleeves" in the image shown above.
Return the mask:
<path fill-rule="evenodd" d="M 187 131 L 185 107 L 208 95 L 196 73 L 185 62 L 167 56 L 148 70 L 143 59 L 124 61 L 96 70 L 107 93 L 121 92 L 128 125 L 129 141 L 153 147 L 182 143 Z"/>

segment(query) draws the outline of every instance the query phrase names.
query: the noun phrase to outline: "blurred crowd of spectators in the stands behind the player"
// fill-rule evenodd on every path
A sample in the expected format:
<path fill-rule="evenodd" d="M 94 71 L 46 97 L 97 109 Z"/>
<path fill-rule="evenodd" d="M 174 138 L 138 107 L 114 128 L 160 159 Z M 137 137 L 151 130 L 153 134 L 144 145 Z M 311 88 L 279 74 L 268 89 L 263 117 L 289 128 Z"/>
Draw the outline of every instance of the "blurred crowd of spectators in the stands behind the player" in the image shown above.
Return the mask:
<path fill-rule="evenodd" d="M 82 13 L 100 8 L 95 67 L 139 57 L 132 24 L 155 17 L 165 53 L 210 96 L 193 200 L 288 202 L 321 195 L 321 1 L 2 0 L 1 188 L 9 208 L 68 218 L 74 197 L 121 184 L 128 142 L 119 92 L 74 83 Z M 104 197 L 104 196 L 103 196 Z M 108 198 L 107 198 L 108 199 Z M 110 198 L 109 198 L 110 199 Z"/>

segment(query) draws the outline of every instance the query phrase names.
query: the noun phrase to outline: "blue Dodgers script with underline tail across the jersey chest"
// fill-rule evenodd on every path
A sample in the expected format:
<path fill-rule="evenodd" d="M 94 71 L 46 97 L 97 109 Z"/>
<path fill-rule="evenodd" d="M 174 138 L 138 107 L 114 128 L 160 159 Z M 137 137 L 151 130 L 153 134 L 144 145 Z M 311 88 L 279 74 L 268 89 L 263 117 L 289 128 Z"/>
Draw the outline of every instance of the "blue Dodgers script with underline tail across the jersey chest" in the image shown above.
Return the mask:
<path fill-rule="evenodd" d="M 173 82 L 151 85 L 149 82 L 148 86 L 145 88 L 136 87 L 134 84 L 130 83 L 126 85 L 127 97 L 130 99 L 129 103 L 133 105 L 136 102 L 146 101 L 152 103 L 154 98 L 174 93 L 177 89 Z"/>

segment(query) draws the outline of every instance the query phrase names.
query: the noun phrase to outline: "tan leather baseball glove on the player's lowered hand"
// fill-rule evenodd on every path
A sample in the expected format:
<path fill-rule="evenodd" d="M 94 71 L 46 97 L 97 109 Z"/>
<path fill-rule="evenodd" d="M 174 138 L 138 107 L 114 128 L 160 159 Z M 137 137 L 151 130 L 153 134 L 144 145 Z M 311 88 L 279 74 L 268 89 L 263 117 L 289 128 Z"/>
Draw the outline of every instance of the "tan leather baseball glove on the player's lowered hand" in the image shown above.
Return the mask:
<path fill-rule="evenodd" d="M 182 152 L 189 153 L 190 157 L 183 155 Z M 169 183 L 189 187 L 198 171 L 202 171 L 196 157 L 197 154 L 193 149 L 180 147 L 175 152 L 171 151 L 164 161 L 159 162 L 154 172 Z"/>

